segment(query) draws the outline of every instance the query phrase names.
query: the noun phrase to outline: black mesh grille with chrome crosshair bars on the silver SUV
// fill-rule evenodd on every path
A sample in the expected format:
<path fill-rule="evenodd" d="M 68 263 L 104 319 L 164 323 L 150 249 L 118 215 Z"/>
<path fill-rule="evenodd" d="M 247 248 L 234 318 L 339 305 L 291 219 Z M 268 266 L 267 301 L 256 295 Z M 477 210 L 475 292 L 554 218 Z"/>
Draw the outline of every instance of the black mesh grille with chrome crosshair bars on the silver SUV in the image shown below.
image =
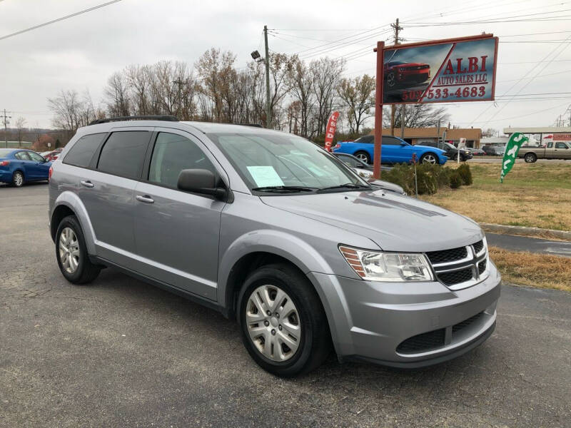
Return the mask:
<path fill-rule="evenodd" d="M 426 256 L 438 280 L 452 290 L 474 285 L 487 267 L 487 248 L 484 240 L 465 247 L 429 251 Z"/>

